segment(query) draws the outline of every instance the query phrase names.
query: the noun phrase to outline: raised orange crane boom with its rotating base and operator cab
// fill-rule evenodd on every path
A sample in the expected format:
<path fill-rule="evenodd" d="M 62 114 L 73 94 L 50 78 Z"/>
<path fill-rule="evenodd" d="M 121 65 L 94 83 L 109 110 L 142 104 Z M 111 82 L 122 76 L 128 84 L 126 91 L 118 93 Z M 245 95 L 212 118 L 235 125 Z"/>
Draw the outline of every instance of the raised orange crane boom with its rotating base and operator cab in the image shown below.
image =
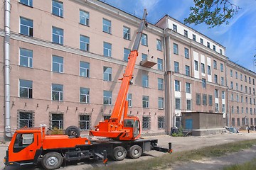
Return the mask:
<path fill-rule="evenodd" d="M 100 122 L 95 126 L 95 130 L 90 130 L 92 136 L 110 137 L 117 140 L 136 140 L 140 137 L 140 123 L 138 117 L 127 117 L 128 101 L 127 93 L 129 85 L 132 84 L 134 66 L 138 57 L 139 43 L 142 39 L 142 31 L 146 23 L 146 9 L 139 25 L 137 36 L 134 40 L 134 46 L 128 57 L 128 64 L 123 74 L 122 84 L 114 104 L 114 109 L 110 120 Z M 123 120 L 122 120 L 123 115 Z M 122 120 L 122 122 L 121 122 Z M 126 125 L 130 124 L 130 125 Z"/>

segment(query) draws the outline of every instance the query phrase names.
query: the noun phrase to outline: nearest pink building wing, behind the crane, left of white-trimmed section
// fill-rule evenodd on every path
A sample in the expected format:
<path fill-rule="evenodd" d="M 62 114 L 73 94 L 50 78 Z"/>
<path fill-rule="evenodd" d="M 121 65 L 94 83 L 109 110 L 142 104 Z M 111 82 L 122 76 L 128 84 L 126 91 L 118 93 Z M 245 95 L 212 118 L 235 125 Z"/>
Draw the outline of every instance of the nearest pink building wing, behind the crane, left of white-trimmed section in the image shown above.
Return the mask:
<path fill-rule="evenodd" d="M 46 124 L 88 132 L 110 117 L 140 18 L 96 0 L 17 0 L 10 21 L 11 130 Z M 139 116 L 144 133 L 165 133 L 162 36 L 150 23 L 144 30 L 127 96 L 128 115 Z M 3 47 L 3 19 L 0 39 Z M 140 66 L 146 57 L 156 64 Z M 0 64 L 4 68 L 4 57 Z M 4 70 L 0 79 L 4 113 Z M 1 114 L 1 132 L 4 120 Z"/>

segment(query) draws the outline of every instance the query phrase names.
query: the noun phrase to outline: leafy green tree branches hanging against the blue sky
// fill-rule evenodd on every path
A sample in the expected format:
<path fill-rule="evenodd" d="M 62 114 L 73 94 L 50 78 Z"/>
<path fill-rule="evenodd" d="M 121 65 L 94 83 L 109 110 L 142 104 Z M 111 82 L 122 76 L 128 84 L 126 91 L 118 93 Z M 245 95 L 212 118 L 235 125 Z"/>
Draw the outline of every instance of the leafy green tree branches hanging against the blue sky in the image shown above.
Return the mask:
<path fill-rule="evenodd" d="M 229 21 L 238 13 L 240 7 L 232 4 L 231 0 L 193 0 L 195 6 L 191 6 L 191 13 L 184 23 L 195 25 L 206 23 L 209 28 L 220 26 Z"/>

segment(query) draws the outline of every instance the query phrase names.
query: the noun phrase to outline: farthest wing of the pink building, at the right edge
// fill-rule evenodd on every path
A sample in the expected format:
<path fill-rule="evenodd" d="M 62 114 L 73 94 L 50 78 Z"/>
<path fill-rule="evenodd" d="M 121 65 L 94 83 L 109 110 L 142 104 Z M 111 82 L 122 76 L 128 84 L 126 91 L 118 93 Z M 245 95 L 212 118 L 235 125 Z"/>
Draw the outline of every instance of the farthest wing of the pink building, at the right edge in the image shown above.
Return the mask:
<path fill-rule="evenodd" d="M 230 125 L 256 125 L 255 72 L 227 62 L 228 108 Z"/>

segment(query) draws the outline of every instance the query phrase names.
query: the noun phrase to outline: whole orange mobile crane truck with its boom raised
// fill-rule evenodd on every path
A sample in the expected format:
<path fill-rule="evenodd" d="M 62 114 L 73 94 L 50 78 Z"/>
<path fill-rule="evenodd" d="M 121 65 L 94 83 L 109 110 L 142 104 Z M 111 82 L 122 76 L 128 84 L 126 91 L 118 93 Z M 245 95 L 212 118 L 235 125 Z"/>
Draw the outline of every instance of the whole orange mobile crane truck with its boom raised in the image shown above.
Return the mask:
<path fill-rule="evenodd" d="M 21 128 L 14 132 L 9 148 L 6 150 L 4 158 L 6 166 L 38 164 L 38 160 L 41 160 L 44 169 L 58 169 L 63 162 L 81 159 L 101 159 L 106 164 L 107 157 L 121 161 L 127 155 L 137 159 L 143 152 L 150 150 L 172 152 L 171 143 L 167 149 L 157 147 L 158 140 L 140 139 L 139 118 L 127 116 L 127 93 L 129 85 L 132 84 L 142 30 L 147 26 L 146 15 L 145 9 L 132 52 L 129 54 L 127 67 L 120 79 L 122 84 L 112 115 L 109 120 L 96 125 L 95 130 L 90 130 L 90 137 L 104 138 L 91 140 L 90 137 L 80 137 L 80 130 L 75 126 L 68 127 L 65 135 L 47 135 L 45 125 L 41 125 L 40 128 Z"/>

